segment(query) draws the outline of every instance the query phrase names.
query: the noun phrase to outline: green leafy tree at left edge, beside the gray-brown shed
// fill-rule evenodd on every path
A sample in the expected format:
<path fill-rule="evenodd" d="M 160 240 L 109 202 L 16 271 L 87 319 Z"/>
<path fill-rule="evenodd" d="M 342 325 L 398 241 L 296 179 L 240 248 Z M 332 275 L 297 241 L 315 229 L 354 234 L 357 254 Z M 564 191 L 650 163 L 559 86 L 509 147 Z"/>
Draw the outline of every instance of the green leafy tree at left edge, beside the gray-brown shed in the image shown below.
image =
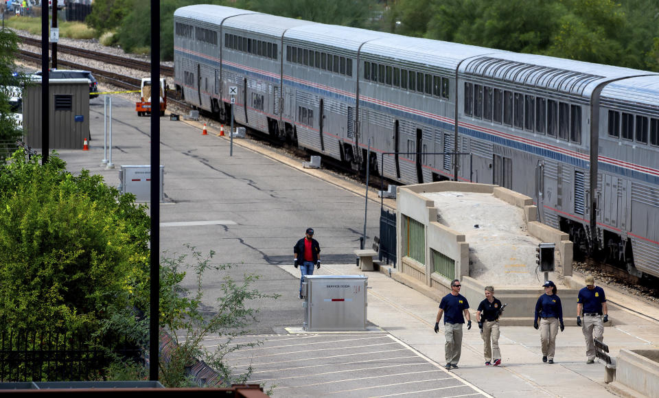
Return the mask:
<path fill-rule="evenodd" d="M 16 70 L 14 65 L 16 51 L 18 51 L 16 34 L 8 29 L 0 30 L 0 147 L 5 147 L 6 141 L 12 141 L 23 135 L 16 125 L 9 103 L 12 91 L 10 87 L 21 87 L 26 80 L 24 76 L 13 74 Z"/>

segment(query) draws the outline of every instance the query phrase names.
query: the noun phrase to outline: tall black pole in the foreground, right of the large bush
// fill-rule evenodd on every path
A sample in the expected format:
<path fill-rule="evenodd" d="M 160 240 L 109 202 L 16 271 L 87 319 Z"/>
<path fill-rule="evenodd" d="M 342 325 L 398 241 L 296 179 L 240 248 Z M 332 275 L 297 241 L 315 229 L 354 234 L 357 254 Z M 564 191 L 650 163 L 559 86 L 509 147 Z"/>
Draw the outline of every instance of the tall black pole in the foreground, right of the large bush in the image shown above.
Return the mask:
<path fill-rule="evenodd" d="M 154 92 L 153 89 L 156 88 Z M 160 349 L 160 0 L 151 0 L 151 292 L 149 379 L 158 380 Z"/>

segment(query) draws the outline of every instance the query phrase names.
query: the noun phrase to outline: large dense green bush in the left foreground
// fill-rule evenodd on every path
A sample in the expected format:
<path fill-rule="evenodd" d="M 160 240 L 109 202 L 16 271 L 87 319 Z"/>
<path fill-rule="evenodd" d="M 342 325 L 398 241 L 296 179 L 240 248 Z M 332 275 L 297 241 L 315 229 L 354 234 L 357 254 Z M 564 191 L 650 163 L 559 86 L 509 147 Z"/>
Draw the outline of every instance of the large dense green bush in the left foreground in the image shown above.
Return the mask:
<path fill-rule="evenodd" d="M 57 156 L 0 167 L 0 318 L 10 329 L 95 325 L 147 307 L 149 226 L 135 197 Z"/>

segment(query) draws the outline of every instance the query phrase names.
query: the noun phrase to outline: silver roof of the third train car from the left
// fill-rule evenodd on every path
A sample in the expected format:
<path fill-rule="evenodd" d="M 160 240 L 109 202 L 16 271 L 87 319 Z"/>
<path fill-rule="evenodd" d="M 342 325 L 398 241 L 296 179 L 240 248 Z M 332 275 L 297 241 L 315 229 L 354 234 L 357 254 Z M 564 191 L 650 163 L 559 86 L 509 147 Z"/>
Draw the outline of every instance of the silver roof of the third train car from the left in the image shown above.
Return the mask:
<path fill-rule="evenodd" d="M 329 45 L 357 51 L 359 47 L 375 38 L 394 36 L 391 33 L 375 32 L 373 30 L 360 29 L 358 27 L 347 27 L 339 25 L 305 25 L 294 27 L 284 34 L 284 40 L 302 40 L 316 45 Z"/>

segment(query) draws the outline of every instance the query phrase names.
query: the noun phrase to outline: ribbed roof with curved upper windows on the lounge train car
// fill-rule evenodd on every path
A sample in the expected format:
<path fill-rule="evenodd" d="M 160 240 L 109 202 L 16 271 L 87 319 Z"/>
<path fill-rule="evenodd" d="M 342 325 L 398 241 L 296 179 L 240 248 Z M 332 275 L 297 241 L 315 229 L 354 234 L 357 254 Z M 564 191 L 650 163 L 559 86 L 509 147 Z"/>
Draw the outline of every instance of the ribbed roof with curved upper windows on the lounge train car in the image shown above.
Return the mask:
<path fill-rule="evenodd" d="M 460 66 L 460 72 L 581 97 L 590 97 L 599 84 L 608 80 L 648 73 L 636 69 L 511 52 L 468 60 Z"/>

